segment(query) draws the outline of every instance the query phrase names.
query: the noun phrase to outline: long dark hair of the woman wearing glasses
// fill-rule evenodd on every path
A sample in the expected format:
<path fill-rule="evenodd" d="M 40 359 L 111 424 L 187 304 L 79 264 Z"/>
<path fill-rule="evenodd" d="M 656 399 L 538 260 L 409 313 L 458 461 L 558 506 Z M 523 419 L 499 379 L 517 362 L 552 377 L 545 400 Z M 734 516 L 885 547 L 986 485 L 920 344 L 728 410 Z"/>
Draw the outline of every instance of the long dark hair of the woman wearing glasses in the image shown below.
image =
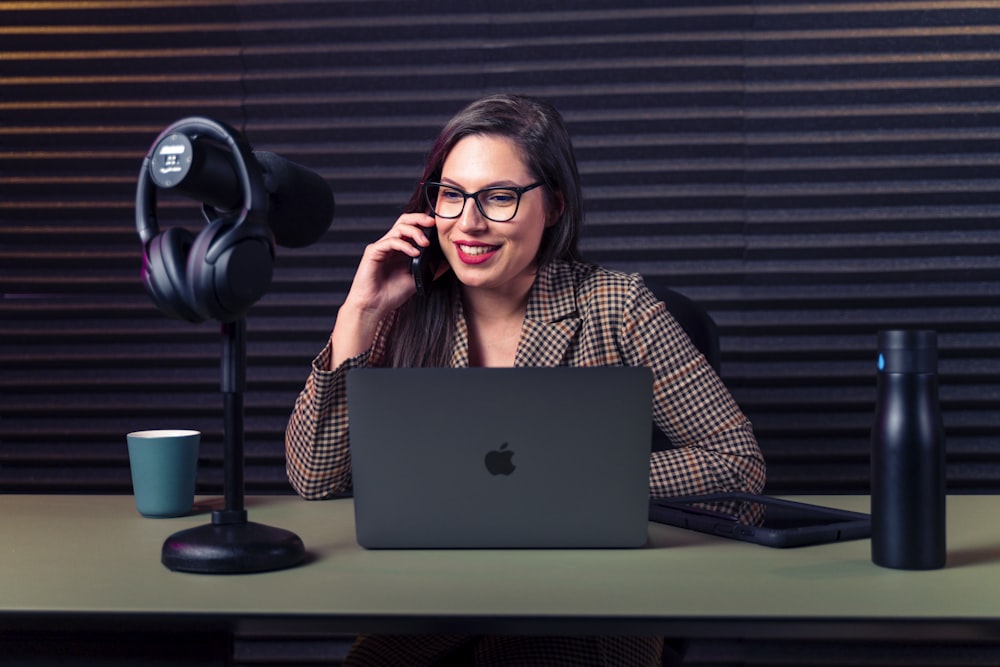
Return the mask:
<path fill-rule="evenodd" d="M 445 160 L 465 137 L 489 135 L 510 139 L 533 176 L 545 183 L 555 224 L 545 228 L 538 249 L 538 266 L 556 259 L 580 260 L 577 248 L 583 226 L 580 174 L 573 144 L 562 115 L 551 104 L 522 95 L 499 94 L 481 98 L 456 114 L 441 130 L 427 157 L 424 181 L 438 181 Z M 427 210 L 418 184 L 405 209 Z M 460 298 L 450 271 L 435 281 L 427 297 L 413 297 L 400 308 L 389 333 L 389 366 L 447 366 L 454 341 L 454 312 Z"/>

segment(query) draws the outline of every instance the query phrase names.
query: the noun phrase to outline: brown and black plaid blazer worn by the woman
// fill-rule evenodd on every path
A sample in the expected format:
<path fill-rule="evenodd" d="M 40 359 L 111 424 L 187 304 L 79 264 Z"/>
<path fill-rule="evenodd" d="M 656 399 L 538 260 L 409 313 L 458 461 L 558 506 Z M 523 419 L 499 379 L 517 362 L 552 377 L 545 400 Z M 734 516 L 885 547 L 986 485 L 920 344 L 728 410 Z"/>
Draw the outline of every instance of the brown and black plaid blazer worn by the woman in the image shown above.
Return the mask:
<path fill-rule="evenodd" d="M 460 300 L 459 300 L 460 301 Z M 451 365 L 469 365 L 468 328 L 456 312 Z M 313 361 L 285 433 L 286 470 L 304 498 L 350 489 L 346 374 L 382 365 L 387 318 L 372 347 L 327 370 L 329 343 Z M 759 493 L 765 465 L 749 420 L 704 356 L 638 274 L 553 262 L 528 299 L 515 366 L 647 366 L 652 418 L 672 449 L 650 456 L 650 495 Z"/>

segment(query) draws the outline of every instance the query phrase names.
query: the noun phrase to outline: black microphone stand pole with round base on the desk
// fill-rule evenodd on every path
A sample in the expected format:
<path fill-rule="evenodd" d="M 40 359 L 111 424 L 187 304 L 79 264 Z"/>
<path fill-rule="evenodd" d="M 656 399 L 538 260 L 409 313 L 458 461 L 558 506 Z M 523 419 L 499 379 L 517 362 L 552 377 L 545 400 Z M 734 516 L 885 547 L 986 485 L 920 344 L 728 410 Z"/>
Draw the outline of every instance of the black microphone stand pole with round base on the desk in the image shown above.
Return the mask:
<path fill-rule="evenodd" d="M 163 543 L 167 568 L 200 574 L 267 572 L 305 560 L 295 533 L 247 520 L 243 490 L 243 394 L 246 390 L 246 319 L 222 324 L 222 395 L 225 508 L 212 523 L 174 533 Z"/>

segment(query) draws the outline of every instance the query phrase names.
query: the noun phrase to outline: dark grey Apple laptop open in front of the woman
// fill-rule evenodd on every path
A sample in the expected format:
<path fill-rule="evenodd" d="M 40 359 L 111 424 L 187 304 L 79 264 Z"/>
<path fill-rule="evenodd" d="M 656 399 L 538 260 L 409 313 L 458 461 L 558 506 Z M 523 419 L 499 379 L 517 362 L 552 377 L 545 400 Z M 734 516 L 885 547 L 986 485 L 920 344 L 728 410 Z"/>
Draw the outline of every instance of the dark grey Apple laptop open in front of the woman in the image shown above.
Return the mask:
<path fill-rule="evenodd" d="M 646 543 L 647 368 L 359 368 L 347 376 L 368 549 Z"/>

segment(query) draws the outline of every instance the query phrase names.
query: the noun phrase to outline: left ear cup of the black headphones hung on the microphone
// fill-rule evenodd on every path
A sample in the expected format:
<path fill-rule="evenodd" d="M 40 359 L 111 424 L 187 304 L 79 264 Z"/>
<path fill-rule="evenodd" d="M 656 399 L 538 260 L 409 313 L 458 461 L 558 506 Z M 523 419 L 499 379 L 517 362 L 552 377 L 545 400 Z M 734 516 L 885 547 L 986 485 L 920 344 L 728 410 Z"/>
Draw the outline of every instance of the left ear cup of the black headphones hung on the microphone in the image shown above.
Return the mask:
<path fill-rule="evenodd" d="M 204 318 L 191 304 L 186 277 L 194 240 L 183 227 L 171 227 L 154 236 L 143 253 L 142 282 L 157 308 L 168 317 L 198 323 Z"/>

